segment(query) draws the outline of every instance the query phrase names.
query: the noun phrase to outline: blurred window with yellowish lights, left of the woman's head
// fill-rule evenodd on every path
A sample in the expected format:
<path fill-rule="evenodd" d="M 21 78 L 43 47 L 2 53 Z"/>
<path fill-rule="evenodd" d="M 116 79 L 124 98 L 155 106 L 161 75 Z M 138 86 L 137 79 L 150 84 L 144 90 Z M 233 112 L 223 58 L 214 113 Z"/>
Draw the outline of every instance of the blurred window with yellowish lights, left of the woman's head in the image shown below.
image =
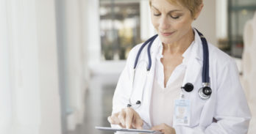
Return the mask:
<path fill-rule="evenodd" d="M 127 59 L 141 40 L 140 1 L 100 0 L 102 59 Z"/>

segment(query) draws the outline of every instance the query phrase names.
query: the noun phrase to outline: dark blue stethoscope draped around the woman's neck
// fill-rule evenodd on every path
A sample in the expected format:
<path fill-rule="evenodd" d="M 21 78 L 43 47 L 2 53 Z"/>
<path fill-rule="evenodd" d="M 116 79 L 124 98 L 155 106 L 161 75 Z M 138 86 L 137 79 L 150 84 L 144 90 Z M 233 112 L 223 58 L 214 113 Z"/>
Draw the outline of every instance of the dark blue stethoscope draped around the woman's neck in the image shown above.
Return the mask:
<path fill-rule="evenodd" d="M 201 40 L 202 40 L 202 46 L 203 46 L 203 67 L 202 67 L 202 88 L 199 89 L 199 97 L 202 100 L 207 100 L 210 98 L 210 95 L 212 94 L 212 89 L 210 89 L 210 77 L 209 77 L 209 51 L 208 51 L 208 43 L 207 40 L 205 39 L 204 35 L 199 32 L 196 29 L 197 33 L 199 34 Z M 133 67 L 133 76 L 132 76 L 132 93 L 130 94 L 129 97 L 129 103 L 127 104 L 127 107 L 132 107 L 137 105 L 137 107 L 139 107 L 141 105 L 141 101 L 143 100 L 143 98 L 141 100 L 137 100 L 136 103 L 132 104 L 131 103 L 131 97 L 133 94 L 133 84 L 134 84 L 134 80 L 135 80 L 135 71 L 136 71 L 136 67 L 138 64 L 138 59 L 141 55 L 141 51 L 143 50 L 143 48 L 145 48 L 146 45 L 148 45 L 147 48 L 147 54 L 148 54 L 148 59 L 149 59 L 149 64 L 147 64 L 146 70 L 147 72 L 149 72 L 149 70 L 151 69 L 152 66 L 152 59 L 151 59 L 151 54 L 150 54 L 150 48 L 152 46 L 152 43 L 154 42 L 154 40 L 157 38 L 157 34 L 154 35 L 153 37 L 149 38 L 149 40 L 146 40 L 146 42 L 143 43 L 143 45 L 141 45 L 141 48 L 139 49 L 136 59 L 135 59 L 135 64 Z M 182 86 L 181 89 L 184 89 L 185 92 L 192 92 L 193 91 L 193 84 L 192 83 L 185 83 L 185 86 Z M 144 89 L 143 89 L 144 90 Z M 142 93 L 143 96 L 143 93 Z"/>

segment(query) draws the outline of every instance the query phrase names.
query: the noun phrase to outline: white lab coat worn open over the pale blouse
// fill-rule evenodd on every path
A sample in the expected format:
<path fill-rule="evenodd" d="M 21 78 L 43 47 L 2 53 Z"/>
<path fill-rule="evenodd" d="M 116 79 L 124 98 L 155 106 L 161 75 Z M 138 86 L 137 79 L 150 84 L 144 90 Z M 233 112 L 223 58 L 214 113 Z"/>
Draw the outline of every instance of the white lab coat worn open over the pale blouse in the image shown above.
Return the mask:
<path fill-rule="evenodd" d="M 202 100 L 198 90 L 202 87 L 202 42 L 195 31 L 195 44 L 191 50 L 191 59 L 185 72 L 185 83 L 193 83 L 192 92 L 184 92 L 185 98 L 191 100 L 191 124 L 189 126 L 174 126 L 177 134 L 245 134 L 249 127 L 251 114 L 239 81 L 238 69 L 234 60 L 226 53 L 208 43 L 210 62 L 210 87 L 213 90 L 209 100 Z M 160 38 L 154 40 L 151 48 L 152 68 L 147 74 L 148 56 L 145 47 L 135 73 L 134 93 L 132 94 L 132 75 L 135 57 L 140 45 L 130 51 L 127 64 L 118 80 L 113 97 L 113 113 L 126 108 L 131 101 L 141 100 L 141 107 L 135 111 L 144 121 L 144 129 L 152 127 L 150 119 L 150 102 L 152 84 L 154 81 L 155 56 Z M 146 75 L 148 75 L 146 77 Z M 182 86 L 182 85 L 181 85 Z M 143 94 L 143 96 L 142 96 Z M 166 102 L 168 105 L 168 102 Z M 173 116 L 173 115 L 170 115 Z M 166 117 L 168 118 L 168 117 Z M 149 126 L 146 127 L 146 124 Z"/>

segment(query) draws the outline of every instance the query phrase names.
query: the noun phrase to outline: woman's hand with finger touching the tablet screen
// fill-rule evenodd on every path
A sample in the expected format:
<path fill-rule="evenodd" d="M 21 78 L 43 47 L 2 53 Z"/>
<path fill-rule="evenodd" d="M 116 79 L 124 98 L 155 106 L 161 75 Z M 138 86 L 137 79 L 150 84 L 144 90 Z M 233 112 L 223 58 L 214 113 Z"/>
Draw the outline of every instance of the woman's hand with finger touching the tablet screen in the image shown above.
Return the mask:
<path fill-rule="evenodd" d="M 142 130 L 143 120 L 132 108 L 123 108 L 120 112 L 114 113 L 107 118 L 110 124 L 118 124 L 123 128 L 135 128 Z"/>

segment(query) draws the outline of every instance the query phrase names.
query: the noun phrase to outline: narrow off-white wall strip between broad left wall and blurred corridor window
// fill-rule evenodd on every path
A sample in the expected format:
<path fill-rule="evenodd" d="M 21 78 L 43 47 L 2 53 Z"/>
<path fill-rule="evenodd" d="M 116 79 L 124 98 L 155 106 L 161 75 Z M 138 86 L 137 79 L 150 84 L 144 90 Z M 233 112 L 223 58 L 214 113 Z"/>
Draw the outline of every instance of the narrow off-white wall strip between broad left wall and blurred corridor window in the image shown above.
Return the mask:
<path fill-rule="evenodd" d="M 74 130 L 81 124 L 85 113 L 85 89 L 88 84 L 87 45 L 83 34 L 83 7 L 80 0 L 65 1 L 65 37 L 67 61 L 67 97 L 70 112 L 67 116 L 67 129 Z M 96 27 L 96 26 L 95 26 Z"/>

